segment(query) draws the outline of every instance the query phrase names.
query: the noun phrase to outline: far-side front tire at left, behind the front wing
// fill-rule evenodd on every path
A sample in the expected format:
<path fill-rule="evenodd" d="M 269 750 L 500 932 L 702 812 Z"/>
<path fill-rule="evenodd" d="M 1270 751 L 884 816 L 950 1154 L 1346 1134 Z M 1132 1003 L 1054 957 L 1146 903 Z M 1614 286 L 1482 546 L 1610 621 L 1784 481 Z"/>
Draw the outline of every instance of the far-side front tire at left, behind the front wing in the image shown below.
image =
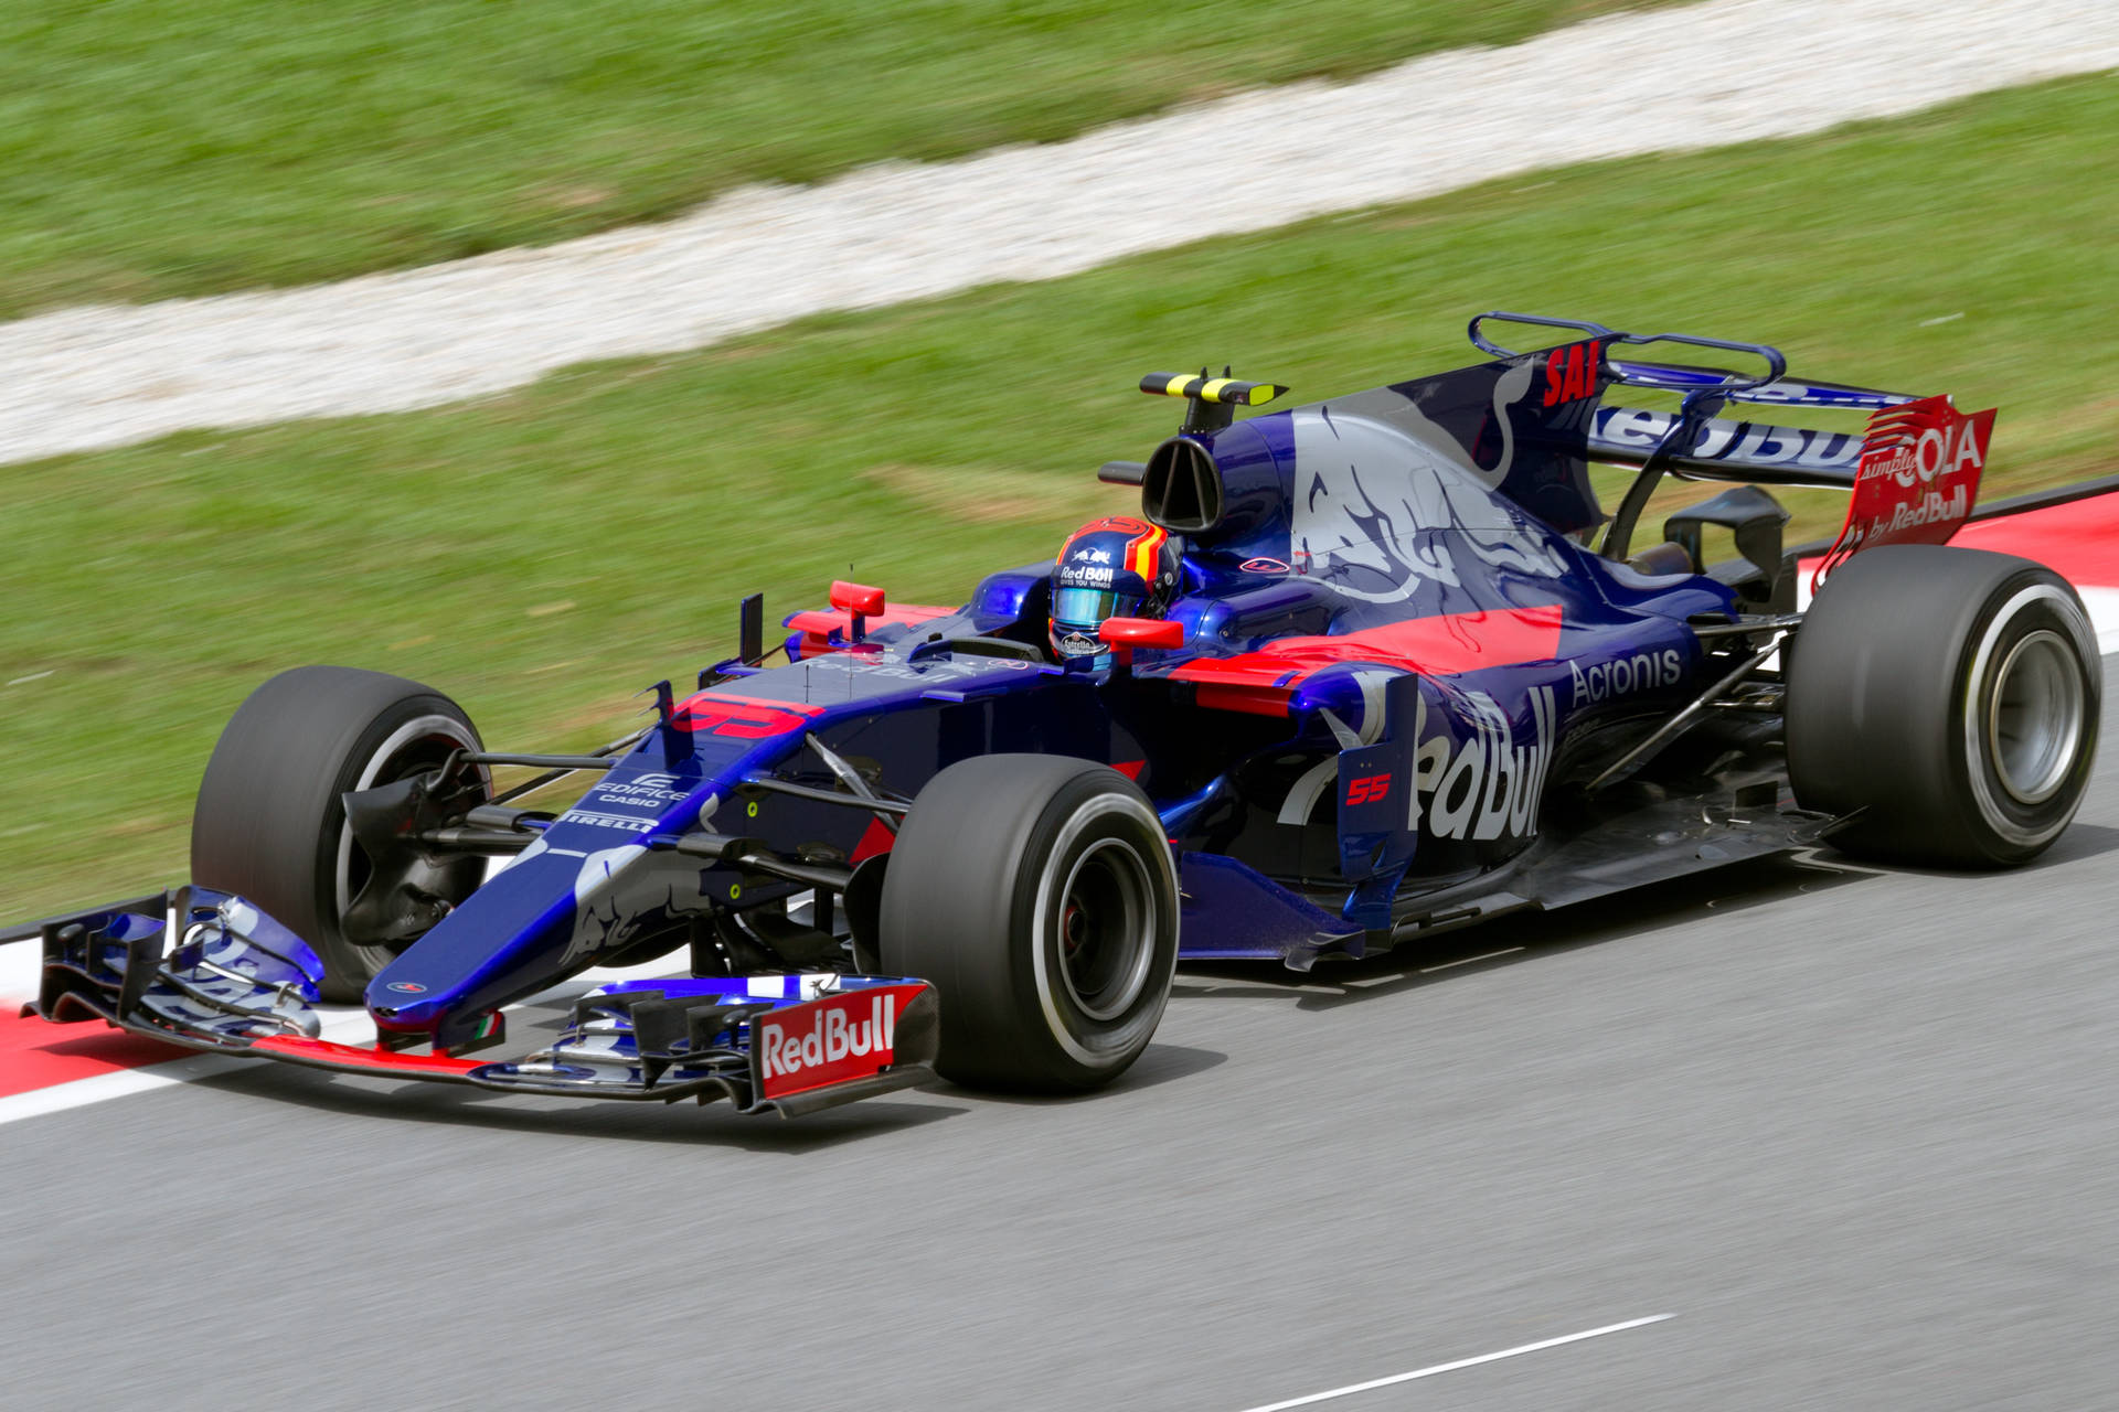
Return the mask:
<path fill-rule="evenodd" d="M 324 999 L 360 1001 L 394 955 L 345 938 L 339 919 L 367 881 L 367 853 L 339 796 L 481 749 L 453 701 L 430 686 L 354 667 L 297 667 L 237 707 L 199 781 L 191 879 L 242 893 L 324 963 Z M 451 864 L 449 902 L 483 879 L 483 859 Z"/>

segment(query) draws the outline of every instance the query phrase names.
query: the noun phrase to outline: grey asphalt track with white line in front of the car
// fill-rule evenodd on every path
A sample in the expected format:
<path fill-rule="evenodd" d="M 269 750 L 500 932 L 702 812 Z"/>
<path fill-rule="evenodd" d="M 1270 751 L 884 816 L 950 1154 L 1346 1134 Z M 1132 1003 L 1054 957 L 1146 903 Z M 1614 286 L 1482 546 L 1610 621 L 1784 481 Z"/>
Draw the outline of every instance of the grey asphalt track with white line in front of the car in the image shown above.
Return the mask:
<path fill-rule="evenodd" d="M 1237 1412 L 1668 1313 L 1322 1406 L 2108 1406 L 2115 726 L 2028 870 L 1185 974 L 1091 1099 L 261 1065 L 13 1122 L 0 1401 Z"/>

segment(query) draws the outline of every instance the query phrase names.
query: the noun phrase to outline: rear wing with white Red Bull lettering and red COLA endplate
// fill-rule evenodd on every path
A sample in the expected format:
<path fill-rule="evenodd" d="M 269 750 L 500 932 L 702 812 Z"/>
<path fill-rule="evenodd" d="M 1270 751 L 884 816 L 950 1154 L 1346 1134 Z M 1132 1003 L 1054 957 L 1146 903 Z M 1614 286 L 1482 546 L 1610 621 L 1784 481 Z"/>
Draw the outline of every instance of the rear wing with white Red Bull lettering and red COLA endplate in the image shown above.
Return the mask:
<path fill-rule="evenodd" d="M 1852 491 L 1833 563 L 1875 544 L 1941 544 L 1971 519 L 1994 430 L 1994 411 L 1964 415 L 1947 396 L 1886 392 L 1788 377 L 1788 358 L 1767 343 L 1695 334 L 1634 334 L 1538 313 L 1488 311 L 1471 320 L 1471 341 L 1496 358 L 1534 358 L 1498 345 L 1485 324 L 1560 328 L 1577 339 L 1543 349 L 1553 364 L 1581 364 L 1585 385 L 1678 394 L 1678 411 L 1613 406 L 1598 398 L 1583 428 L 1591 461 L 1634 466 L 1640 474 L 1613 514 L 1598 550 L 1625 559 L 1634 527 L 1661 476 L 1742 481 Z M 1638 358 L 1649 345 L 1729 354 L 1759 366 L 1699 366 Z M 1682 356 L 1682 354 L 1680 354 Z M 1735 406 L 1810 406 L 1867 413 L 1860 432 L 1791 428 L 1723 415 Z"/>

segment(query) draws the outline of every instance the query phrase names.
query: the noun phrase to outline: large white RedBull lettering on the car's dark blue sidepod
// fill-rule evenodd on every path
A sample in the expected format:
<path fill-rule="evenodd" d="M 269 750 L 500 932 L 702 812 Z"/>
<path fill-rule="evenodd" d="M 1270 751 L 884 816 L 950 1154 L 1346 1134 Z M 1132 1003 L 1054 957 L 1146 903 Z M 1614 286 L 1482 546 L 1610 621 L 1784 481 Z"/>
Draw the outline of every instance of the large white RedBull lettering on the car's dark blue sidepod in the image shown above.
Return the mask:
<path fill-rule="evenodd" d="M 1413 739 L 1413 804 L 1407 828 L 1435 838 L 1530 838 L 1538 832 L 1538 800 L 1553 762 L 1553 688 L 1530 688 L 1530 743 L 1517 745 L 1509 716 L 1485 692 L 1464 692 L 1471 739 L 1452 749 L 1447 735 L 1428 739 L 1428 699 L 1420 699 Z"/>

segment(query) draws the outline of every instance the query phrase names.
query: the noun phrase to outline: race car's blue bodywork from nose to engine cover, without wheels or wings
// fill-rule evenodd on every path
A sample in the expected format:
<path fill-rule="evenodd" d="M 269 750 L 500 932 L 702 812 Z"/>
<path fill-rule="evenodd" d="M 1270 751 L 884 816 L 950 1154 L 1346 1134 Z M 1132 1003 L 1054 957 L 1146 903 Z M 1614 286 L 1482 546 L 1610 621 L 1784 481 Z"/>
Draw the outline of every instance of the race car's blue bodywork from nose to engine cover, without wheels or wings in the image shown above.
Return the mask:
<path fill-rule="evenodd" d="M 1697 694 L 1687 618 L 1738 608 L 1712 578 L 1644 578 L 1555 527 L 1598 521 L 1596 392 L 1547 402 L 1545 358 L 1513 358 L 1199 436 L 1225 508 L 1185 538 L 1168 616 L 1187 641 L 1129 671 L 966 648 L 1043 641 L 1049 565 L 994 574 L 954 612 L 886 612 L 860 641 L 845 614 L 797 614 L 788 665 L 723 665 L 384 970 L 369 1008 L 447 1044 L 642 936 L 799 891 L 672 847 L 701 828 L 803 857 L 888 847 L 871 815 L 746 790 L 831 790 L 812 739 L 898 798 L 996 752 L 1112 764 L 1178 851 L 1182 955 L 1358 955 L 1424 891 L 1530 849 L 1570 739 Z M 1350 798 L 1352 779 L 1388 783 Z"/>

